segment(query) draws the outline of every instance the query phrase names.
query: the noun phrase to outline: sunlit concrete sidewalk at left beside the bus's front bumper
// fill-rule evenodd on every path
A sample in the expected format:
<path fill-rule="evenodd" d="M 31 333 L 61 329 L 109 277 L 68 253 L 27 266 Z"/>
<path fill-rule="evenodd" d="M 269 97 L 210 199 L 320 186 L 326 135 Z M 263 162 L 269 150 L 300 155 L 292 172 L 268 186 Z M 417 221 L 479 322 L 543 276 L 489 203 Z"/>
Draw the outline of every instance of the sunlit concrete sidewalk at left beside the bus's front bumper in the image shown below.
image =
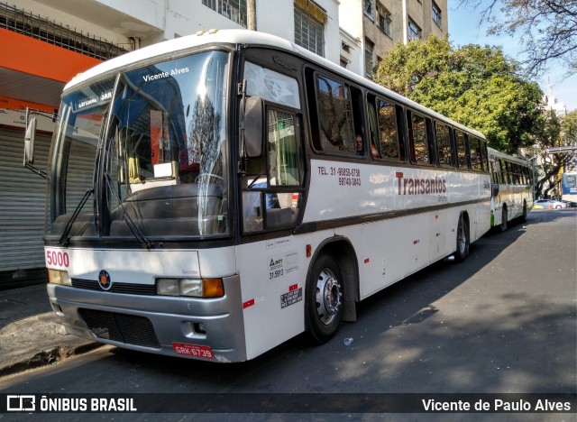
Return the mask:
<path fill-rule="evenodd" d="M 66 333 L 50 308 L 45 284 L 0 290 L 0 377 L 100 345 Z"/>

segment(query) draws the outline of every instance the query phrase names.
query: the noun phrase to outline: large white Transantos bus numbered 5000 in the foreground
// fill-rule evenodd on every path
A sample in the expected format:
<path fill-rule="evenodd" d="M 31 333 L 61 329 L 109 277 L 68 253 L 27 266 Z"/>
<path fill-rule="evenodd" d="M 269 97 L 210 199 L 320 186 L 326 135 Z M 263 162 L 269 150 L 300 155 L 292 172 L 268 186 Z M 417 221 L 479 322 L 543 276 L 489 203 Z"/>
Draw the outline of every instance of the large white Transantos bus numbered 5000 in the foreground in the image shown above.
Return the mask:
<path fill-rule="evenodd" d="M 73 335 L 214 362 L 323 343 L 489 229 L 481 133 L 268 34 L 165 41 L 62 95 L 45 252 Z"/>

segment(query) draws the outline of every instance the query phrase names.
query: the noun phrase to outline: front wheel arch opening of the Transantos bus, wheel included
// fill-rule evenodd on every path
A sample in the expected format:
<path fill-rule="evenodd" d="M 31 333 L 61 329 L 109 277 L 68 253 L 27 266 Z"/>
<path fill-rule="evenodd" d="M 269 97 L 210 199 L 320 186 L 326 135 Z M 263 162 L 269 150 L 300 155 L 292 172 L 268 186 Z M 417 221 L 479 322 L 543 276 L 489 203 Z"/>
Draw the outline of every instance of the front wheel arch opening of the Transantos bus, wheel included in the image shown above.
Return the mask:
<path fill-rule="evenodd" d="M 342 321 L 355 319 L 359 271 L 353 246 L 344 238 L 321 245 L 307 273 L 305 323 L 316 344 L 324 344 Z"/>

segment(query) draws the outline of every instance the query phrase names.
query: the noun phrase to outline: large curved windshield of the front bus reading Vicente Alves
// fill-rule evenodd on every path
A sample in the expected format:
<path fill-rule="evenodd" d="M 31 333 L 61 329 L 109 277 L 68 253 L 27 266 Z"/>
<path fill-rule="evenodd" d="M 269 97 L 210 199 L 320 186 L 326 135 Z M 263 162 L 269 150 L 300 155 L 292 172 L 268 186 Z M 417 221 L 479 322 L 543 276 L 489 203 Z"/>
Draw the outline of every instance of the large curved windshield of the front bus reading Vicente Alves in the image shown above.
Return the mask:
<path fill-rule="evenodd" d="M 227 60 L 198 53 L 67 93 L 50 154 L 47 236 L 228 234 Z"/>

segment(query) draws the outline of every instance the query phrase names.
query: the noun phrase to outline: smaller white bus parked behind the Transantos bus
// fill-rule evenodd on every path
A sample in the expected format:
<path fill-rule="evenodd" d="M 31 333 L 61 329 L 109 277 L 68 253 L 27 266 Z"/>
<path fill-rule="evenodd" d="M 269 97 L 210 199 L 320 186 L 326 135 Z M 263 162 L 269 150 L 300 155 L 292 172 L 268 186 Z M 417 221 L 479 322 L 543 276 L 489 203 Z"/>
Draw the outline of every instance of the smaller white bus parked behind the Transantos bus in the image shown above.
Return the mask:
<path fill-rule="evenodd" d="M 490 225 L 504 232 L 508 222 L 518 218 L 527 221 L 533 208 L 533 167 L 525 159 L 488 149 L 492 196 Z"/>

